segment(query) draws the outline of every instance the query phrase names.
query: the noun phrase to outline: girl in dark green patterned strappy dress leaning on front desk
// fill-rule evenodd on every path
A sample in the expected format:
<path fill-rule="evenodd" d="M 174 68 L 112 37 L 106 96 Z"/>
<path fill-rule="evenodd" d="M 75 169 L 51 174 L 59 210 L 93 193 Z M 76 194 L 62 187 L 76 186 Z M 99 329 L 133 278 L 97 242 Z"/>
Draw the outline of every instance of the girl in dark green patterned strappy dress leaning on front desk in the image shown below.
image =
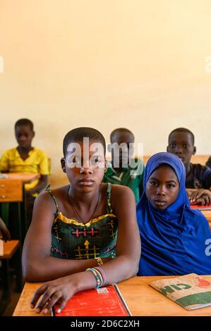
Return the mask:
<path fill-rule="evenodd" d="M 23 246 L 25 280 L 45 282 L 31 301 L 34 308 L 43 294 L 37 313 L 47 313 L 56 302 L 62 310 L 76 292 L 138 272 L 135 197 L 128 187 L 102 183 L 104 137 L 78 127 L 66 134 L 63 146 L 61 168 L 71 184 L 37 196 Z"/>

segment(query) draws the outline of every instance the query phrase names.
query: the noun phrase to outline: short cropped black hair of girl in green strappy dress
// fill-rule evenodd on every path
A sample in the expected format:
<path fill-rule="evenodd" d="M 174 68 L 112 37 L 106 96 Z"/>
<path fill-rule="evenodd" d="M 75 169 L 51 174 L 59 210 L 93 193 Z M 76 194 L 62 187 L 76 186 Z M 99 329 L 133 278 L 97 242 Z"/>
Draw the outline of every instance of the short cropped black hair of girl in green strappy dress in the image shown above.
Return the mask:
<path fill-rule="evenodd" d="M 106 154 L 106 142 L 100 131 L 93 129 L 93 127 L 76 127 L 76 129 L 69 131 L 64 137 L 64 157 L 66 156 L 68 144 L 71 144 L 71 142 L 83 142 L 83 137 L 88 137 L 90 140 L 100 142 L 104 149 L 104 155 Z"/>

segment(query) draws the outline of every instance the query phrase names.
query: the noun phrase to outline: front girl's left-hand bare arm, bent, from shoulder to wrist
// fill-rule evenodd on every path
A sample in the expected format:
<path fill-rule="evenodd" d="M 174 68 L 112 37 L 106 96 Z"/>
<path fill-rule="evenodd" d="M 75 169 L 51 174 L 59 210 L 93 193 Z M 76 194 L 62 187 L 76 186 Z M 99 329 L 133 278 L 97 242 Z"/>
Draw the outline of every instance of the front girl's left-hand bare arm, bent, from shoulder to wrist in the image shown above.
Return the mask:
<path fill-rule="evenodd" d="M 50 256 L 55 212 L 54 201 L 48 192 L 37 196 L 23 245 L 23 277 L 28 282 L 46 282 L 96 266 L 95 259 L 78 261 Z"/>

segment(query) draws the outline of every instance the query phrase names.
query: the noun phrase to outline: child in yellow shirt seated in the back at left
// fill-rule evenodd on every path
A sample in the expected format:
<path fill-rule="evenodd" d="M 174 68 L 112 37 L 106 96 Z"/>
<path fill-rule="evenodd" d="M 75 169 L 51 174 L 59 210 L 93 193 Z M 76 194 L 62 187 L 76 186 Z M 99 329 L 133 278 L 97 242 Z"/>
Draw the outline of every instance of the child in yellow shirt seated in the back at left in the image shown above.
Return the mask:
<path fill-rule="evenodd" d="M 37 196 L 47 186 L 49 165 L 47 154 L 40 149 L 32 147 L 32 139 L 35 137 L 33 123 L 27 118 L 18 120 L 15 124 L 15 135 L 18 147 L 4 151 L 0 160 L 2 173 L 39 173 L 40 178 L 25 184 L 27 220 L 32 219 L 32 208 Z"/>

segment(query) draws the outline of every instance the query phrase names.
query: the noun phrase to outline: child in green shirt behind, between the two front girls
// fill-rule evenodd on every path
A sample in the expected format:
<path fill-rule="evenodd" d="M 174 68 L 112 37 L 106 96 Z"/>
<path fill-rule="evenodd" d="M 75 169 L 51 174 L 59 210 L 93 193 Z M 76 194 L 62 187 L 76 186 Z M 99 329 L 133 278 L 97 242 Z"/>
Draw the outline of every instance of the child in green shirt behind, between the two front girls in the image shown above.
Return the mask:
<path fill-rule="evenodd" d="M 119 128 L 111 132 L 110 140 L 111 162 L 108 163 L 102 182 L 130 187 L 135 195 L 135 201 L 138 202 L 143 191 L 144 167 L 139 158 L 133 159 L 135 168 L 131 166 L 134 135 L 128 129 Z"/>

